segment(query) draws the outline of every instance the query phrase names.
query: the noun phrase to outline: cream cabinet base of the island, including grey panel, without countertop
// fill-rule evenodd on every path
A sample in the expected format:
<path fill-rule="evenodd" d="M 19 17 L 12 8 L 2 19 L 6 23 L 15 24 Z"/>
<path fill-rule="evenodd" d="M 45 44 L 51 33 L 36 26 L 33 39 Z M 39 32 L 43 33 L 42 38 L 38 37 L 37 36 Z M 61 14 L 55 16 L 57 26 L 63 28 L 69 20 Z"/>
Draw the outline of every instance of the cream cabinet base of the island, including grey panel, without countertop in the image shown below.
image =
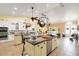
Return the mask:
<path fill-rule="evenodd" d="M 55 39 L 45 41 L 36 45 L 26 42 L 25 53 L 29 56 L 46 56 L 57 47 Z"/>

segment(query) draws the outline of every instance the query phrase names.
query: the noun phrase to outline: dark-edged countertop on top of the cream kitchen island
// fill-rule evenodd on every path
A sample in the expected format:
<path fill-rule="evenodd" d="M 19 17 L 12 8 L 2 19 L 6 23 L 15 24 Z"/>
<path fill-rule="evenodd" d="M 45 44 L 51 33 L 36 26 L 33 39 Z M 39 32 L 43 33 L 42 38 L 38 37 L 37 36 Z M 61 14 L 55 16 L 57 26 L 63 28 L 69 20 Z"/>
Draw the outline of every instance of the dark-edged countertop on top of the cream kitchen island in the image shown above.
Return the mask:
<path fill-rule="evenodd" d="M 31 43 L 32 45 L 37 45 L 37 44 L 40 44 L 42 42 L 49 41 L 52 39 L 53 39 L 53 37 L 51 37 L 51 36 L 42 36 L 42 37 L 37 37 L 35 41 L 33 41 L 31 39 L 26 39 L 25 41 Z"/>

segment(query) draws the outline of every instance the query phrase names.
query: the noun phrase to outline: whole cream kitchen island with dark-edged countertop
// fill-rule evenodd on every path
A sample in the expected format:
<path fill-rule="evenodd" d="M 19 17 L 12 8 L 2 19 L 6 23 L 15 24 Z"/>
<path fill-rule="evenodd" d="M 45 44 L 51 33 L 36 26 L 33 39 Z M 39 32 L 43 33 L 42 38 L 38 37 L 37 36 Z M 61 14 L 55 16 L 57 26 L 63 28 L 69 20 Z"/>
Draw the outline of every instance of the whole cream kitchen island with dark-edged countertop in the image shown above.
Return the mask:
<path fill-rule="evenodd" d="M 57 47 L 57 39 L 52 36 L 39 36 L 35 41 L 25 40 L 25 54 L 29 56 L 47 56 Z"/>

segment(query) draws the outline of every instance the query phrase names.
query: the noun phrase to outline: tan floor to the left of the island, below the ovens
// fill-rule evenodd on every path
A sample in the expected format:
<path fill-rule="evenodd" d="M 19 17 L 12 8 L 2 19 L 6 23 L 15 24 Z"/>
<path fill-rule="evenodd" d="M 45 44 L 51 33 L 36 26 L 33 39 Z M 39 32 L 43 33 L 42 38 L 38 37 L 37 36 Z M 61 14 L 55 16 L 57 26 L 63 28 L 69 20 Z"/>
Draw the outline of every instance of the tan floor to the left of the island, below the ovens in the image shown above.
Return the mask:
<path fill-rule="evenodd" d="M 20 56 L 22 44 L 16 45 L 14 42 L 0 43 L 0 56 Z"/>

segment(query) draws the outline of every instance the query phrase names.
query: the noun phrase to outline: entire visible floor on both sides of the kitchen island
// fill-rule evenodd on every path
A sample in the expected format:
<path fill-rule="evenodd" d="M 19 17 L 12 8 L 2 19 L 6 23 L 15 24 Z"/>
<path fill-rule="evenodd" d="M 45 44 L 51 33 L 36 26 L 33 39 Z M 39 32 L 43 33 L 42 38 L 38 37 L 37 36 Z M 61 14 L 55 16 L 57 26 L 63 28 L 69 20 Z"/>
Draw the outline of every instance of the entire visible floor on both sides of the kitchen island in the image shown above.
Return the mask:
<path fill-rule="evenodd" d="M 0 43 L 0 56 L 21 56 L 22 45 L 15 46 L 14 42 Z M 58 39 L 58 47 L 49 56 L 79 56 L 79 43 L 69 38 Z"/>

